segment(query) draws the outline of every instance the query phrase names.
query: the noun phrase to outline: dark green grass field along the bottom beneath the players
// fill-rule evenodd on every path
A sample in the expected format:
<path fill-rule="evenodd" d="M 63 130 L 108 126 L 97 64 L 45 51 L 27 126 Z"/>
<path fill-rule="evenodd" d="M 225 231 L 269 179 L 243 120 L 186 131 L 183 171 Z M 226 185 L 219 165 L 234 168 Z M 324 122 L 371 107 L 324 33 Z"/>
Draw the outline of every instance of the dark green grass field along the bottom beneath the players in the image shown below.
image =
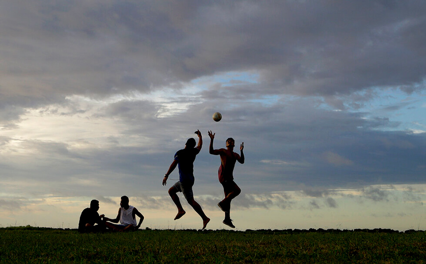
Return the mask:
<path fill-rule="evenodd" d="M 0 229 L 0 263 L 426 263 L 426 232 Z"/>

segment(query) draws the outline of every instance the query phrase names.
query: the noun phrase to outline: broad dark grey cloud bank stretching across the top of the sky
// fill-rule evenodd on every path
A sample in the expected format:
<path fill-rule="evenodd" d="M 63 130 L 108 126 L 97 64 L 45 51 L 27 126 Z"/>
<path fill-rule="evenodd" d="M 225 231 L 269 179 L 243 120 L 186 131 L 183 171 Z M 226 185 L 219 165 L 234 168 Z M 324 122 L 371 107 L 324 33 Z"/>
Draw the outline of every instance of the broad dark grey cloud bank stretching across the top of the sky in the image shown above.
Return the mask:
<path fill-rule="evenodd" d="M 0 94 L 35 107 L 227 71 L 258 73 L 259 84 L 242 89 L 258 95 L 423 89 L 425 9 L 419 1 L 5 2 Z"/>

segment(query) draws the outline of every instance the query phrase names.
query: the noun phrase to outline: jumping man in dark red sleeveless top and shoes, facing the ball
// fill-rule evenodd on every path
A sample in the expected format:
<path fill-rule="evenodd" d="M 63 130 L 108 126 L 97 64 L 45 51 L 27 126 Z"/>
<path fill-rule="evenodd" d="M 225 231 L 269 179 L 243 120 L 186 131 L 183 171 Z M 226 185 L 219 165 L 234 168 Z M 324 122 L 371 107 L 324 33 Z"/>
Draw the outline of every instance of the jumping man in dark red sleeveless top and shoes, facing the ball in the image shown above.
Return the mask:
<path fill-rule="evenodd" d="M 220 167 L 219 167 L 219 183 L 223 186 L 225 198 L 220 201 L 217 205 L 225 212 L 225 219 L 223 223 L 229 227 L 235 228 L 232 224 L 230 217 L 231 201 L 241 193 L 240 187 L 234 182 L 234 167 L 235 162 L 238 160 L 241 164 L 244 163 L 244 142 L 240 145 L 240 155 L 234 152 L 235 140 L 230 137 L 226 140 L 226 149 L 213 149 L 214 134 L 212 131 L 208 132 L 210 136 L 210 149 L 209 152 L 212 155 L 220 155 Z"/>

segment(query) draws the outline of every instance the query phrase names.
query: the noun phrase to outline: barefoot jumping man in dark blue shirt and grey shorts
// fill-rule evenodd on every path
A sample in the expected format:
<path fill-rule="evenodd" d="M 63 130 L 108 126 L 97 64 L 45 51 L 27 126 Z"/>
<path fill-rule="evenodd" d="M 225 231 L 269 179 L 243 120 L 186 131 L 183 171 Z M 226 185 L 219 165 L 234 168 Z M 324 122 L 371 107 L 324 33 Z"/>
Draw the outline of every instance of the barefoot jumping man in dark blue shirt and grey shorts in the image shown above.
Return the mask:
<path fill-rule="evenodd" d="M 201 147 L 203 145 L 203 138 L 201 132 L 197 130 L 195 132 L 198 136 L 198 145 L 195 147 L 195 139 L 189 138 L 186 141 L 185 148 L 179 150 L 175 154 L 172 164 L 170 165 L 166 174 L 164 174 L 163 185 L 166 185 L 167 178 L 170 173 L 176 168 L 179 167 L 179 182 L 174 184 L 169 189 L 169 195 L 178 208 L 178 214 L 174 220 L 181 218 L 186 211 L 181 205 L 181 201 L 177 195 L 178 192 L 182 192 L 185 196 L 186 201 L 192 208 L 201 216 L 203 219 L 203 229 L 206 228 L 207 224 L 210 221 L 210 218 L 206 216 L 201 206 L 194 200 L 194 194 L 192 192 L 192 186 L 194 185 L 194 160 L 195 156 L 200 153 Z"/>

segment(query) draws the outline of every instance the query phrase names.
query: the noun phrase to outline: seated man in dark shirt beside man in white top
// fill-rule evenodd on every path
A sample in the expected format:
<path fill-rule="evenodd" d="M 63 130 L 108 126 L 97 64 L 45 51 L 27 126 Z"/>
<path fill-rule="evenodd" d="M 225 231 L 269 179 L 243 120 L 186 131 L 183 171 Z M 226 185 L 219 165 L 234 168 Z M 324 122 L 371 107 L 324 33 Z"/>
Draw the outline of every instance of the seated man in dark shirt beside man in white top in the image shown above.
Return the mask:
<path fill-rule="evenodd" d="M 79 221 L 79 232 L 101 232 L 105 231 L 104 214 L 99 215 L 99 201 L 90 201 L 90 208 L 86 208 L 81 212 Z M 97 225 L 95 225 L 97 223 Z"/>

